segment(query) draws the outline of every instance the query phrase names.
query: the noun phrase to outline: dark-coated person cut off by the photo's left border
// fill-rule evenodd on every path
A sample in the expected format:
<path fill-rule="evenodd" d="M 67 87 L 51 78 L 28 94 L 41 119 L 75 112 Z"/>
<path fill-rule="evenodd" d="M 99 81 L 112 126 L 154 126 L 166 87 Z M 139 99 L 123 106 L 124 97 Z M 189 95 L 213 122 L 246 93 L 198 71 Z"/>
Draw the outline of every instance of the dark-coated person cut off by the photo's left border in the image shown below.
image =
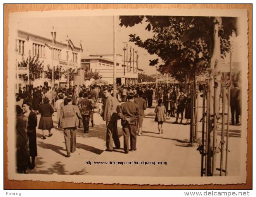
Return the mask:
<path fill-rule="evenodd" d="M 26 173 L 28 166 L 27 118 L 16 105 L 16 166 L 18 173 Z"/>

